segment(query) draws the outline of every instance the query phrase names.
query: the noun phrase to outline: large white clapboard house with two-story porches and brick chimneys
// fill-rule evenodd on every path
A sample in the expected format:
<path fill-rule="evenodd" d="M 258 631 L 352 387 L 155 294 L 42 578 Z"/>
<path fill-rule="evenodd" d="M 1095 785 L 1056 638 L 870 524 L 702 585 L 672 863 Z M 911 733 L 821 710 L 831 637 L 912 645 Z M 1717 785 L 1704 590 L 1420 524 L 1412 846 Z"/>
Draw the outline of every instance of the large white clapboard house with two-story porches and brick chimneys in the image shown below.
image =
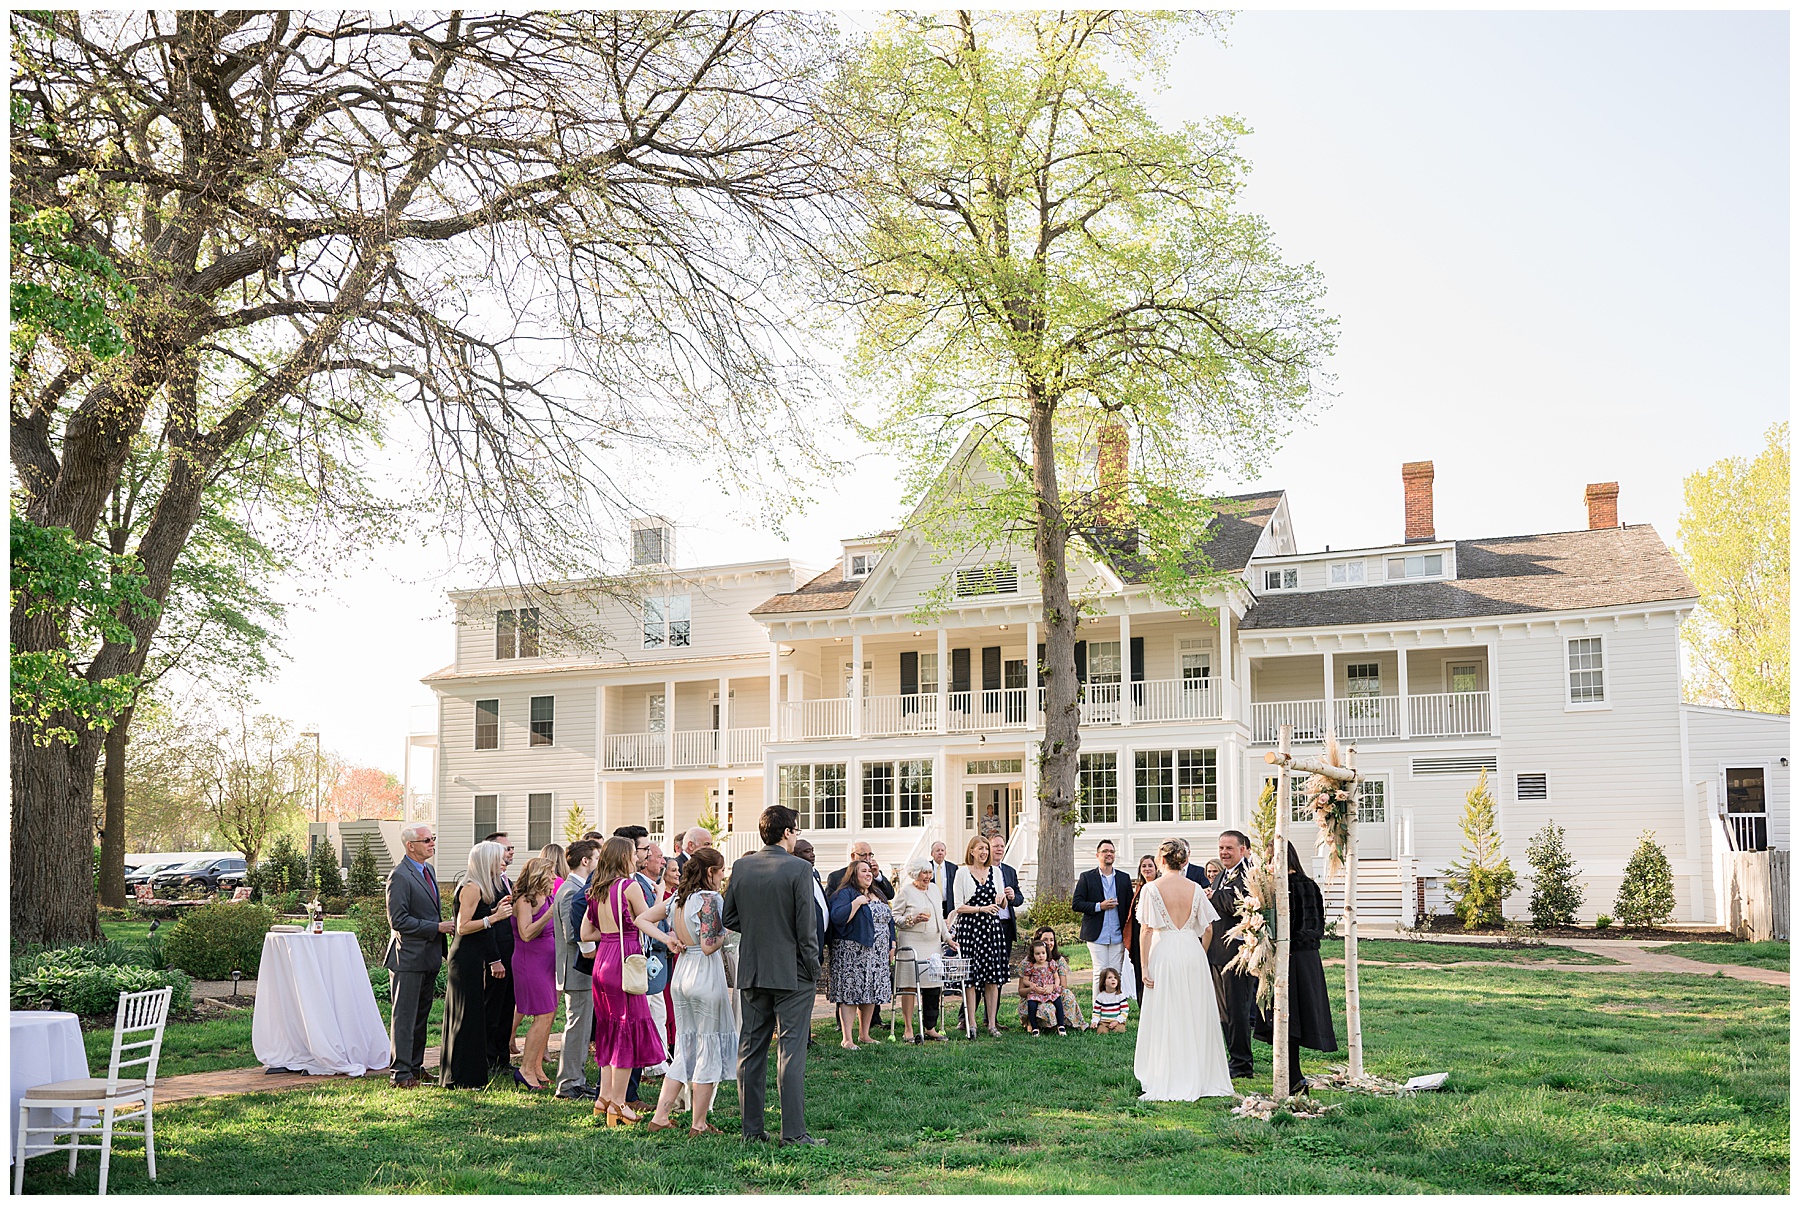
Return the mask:
<path fill-rule="evenodd" d="M 959 456 L 941 488 L 985 472 Z M 1678 629 L 1696 598 L 1656 531 L 1620 526 L 1604 485 L 1588 486 L 1586 530 L 1440 540 L 1429 461 L 1402 476 L 1402 539 L 1348 551 L 1301 553 L 1278 490 L 1226 499 L 1204 537 L 1226 576 L 1186 609 L 1154 598 L 1118 548 L 1071 546 L 1071 585 L 1093 611 L 1076 645 L 1078 859 L 1100 838 L 1130 866 L 1170 834 L 1210 848 L 1247 829 L 1282 724 L 1298 744 L 1334 728 L 1366 776 L 1372 920 L 1444 908 L 1483 769 L 1516 868 L 1548 820 L 1568 829 L 1588 917 L 1652 829 L 1678 919 L 1719 919 L 1726 845 L 1786 848 L 1787 719 L 1681 702 Z M 823 573 L 657 557 L 637 569 L 641 605 L 545 587 L 596 652 L 554 652 L 551 625 L 506 593 L 454 594 L 457 657 L 425 679 L 439 695 L 445 866 L 495 829 L 562 839 L 571 803 L 598 829 L 666 836 L 711 807 L 734 856 L 754 845 L 756 812 L 783 802 L 821 866 L 855 839 L 898 863 L 936 839 L 959 857 L 999 830 L 1033 881 L 1030 549 L 932 548 L 909 522 L 844 540 Z"/>

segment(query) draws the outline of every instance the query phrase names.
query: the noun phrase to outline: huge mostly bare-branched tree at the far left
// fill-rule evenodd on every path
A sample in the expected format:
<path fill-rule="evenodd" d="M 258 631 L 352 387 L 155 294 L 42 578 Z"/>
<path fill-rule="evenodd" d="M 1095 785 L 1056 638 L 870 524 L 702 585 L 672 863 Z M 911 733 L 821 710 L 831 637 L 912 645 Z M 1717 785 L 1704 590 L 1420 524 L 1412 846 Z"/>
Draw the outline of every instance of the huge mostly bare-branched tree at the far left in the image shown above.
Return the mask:
<path fill-rule="evenodd" d="M 27 670 L 140 677 L 207 490 L 263 436 L 315 474 L 344 432 L 405 416 L 412 501 L 470 558 L 626 594 L 607 573 L 641 512 L 621 458 L 704 459 L 770 510 L 821 463 L 776 268 L 839 207 L 823 18 L 9 22 L 14 506 L 85 548 L 146 436 L 167 456 L 130 548 L 155 605 L 103 600 L 119 627 L 81 645 L 81 594 L 14 571 Z M 14 715 L 22 940 L 97 935 L 81 866 L 122 702 Z M 47 729 L 74 742 L 34 744 Z"/>

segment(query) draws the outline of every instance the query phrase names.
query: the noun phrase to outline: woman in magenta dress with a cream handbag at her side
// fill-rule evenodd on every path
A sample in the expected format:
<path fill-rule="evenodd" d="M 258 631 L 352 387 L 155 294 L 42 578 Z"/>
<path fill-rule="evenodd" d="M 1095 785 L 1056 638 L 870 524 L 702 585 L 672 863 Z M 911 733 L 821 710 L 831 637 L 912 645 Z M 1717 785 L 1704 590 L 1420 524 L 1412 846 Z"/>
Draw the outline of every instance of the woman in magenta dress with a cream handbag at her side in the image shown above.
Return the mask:
<path fill-rule="evenodd" d="M 655 1066 L 662 1059 L 650 1003 L 625 992 L 625 960 L 643 953 L 634 920 L 650 906 L 644 890 L 632 879 L 635 859 L 635 841 L 607 838 L 589 884 L 587 917 L 581 919 L 581 940 L 596 942 L 594 1063 L 599 1065 L 599 1097 L 594 1113 L 603 1115 L 608 1126 L 637 1124 L 639 1115 L 625 1104 L 625 1090 L 635 1068 Z M 673 937 L 670 942 L 679 947 Z"/>

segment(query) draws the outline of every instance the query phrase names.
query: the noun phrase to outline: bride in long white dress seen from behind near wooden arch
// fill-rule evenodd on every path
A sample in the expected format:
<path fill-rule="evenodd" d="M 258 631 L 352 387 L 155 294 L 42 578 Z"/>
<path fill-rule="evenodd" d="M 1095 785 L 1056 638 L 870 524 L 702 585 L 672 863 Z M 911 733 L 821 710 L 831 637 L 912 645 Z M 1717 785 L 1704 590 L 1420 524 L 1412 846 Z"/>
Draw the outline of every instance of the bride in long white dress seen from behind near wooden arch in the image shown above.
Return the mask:
<path fill-rule="evenodd" d="M 1219 1028 L 1213 973 L 1206 964 L 1206 926 L 1219 919 L 1211 901 L 1183 868 L 1184 841 L 1156 852 L 1163 874 L 1138 895 L 1143 951 L 1143 1014 L 1138 1019 L 1134 1072 L 1143 1101 L 1229 1097 L 1231 1066 Z"/>

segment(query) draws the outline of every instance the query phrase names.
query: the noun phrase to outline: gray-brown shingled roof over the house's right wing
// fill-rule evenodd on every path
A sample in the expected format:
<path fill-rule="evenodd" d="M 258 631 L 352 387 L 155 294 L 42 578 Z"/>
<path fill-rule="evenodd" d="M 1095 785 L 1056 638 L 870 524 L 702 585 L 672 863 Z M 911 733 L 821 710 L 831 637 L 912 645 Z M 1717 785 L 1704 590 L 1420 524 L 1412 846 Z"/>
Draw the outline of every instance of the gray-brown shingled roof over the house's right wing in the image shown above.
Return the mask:
<path fill-rule="evenodd" d="M 1656 528 L 1552 531 L 1456 540 L 1454 582 L 1397 582 L 1301 594 L 1264 594 L 1244 630 L 1474 620 L 1584 611 L 1697 596 Z"/>

